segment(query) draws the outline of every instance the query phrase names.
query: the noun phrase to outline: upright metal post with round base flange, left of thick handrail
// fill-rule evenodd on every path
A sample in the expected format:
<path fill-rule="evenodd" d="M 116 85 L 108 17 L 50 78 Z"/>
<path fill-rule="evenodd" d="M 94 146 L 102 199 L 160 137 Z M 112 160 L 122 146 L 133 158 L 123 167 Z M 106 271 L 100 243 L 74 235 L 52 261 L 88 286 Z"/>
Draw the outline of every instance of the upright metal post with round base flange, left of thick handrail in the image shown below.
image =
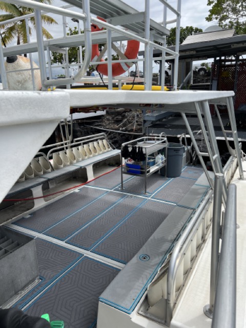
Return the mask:
<path fill-rule="evenodd" d="M 213 204 L 213 224 L 212 224 L 212 247 L 211 247 L 211 269 L 210 269 L 210 302 L 203 308 L 204 314 L 211 318 L 214 312 L 215 292 L 218 276 L 219 262 L 219 239 L 220 239 L 220 219 L 221 202 L 223 189 L 223 174 L 215 174 L 214 204 Z"/>

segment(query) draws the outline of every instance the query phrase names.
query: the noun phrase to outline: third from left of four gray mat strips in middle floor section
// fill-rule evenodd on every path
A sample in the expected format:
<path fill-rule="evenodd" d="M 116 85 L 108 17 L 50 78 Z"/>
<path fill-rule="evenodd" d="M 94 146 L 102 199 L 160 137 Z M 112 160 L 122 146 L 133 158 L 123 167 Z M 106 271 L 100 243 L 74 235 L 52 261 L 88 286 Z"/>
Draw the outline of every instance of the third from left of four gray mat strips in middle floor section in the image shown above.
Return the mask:
<path fill-rule="evenodd" d="M 136 210 L 136 207 L 139 206 L 142 201 L 143 200 L 139 197 L 127 196 L 122 199 L 122 201 L 115 204 L 111 210 L 101 215 L 67 242 L 77 247 L 90 250 L 122 220 L 129 216 L 132 211 Z"/>

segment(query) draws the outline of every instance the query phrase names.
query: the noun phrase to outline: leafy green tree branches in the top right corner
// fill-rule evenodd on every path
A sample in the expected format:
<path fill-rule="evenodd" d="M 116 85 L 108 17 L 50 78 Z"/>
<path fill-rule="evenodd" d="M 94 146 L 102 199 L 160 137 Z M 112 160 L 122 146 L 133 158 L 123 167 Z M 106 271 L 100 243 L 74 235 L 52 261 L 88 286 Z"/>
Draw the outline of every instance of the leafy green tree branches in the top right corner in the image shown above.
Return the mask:
<path fill-rule="evenodd" d="M 245 0 L 208 0 L 212 6 L 208 22 L 217 20 L 223 28 L 235 28 L 236 34 L 246 34 L 246 2 Z"/>

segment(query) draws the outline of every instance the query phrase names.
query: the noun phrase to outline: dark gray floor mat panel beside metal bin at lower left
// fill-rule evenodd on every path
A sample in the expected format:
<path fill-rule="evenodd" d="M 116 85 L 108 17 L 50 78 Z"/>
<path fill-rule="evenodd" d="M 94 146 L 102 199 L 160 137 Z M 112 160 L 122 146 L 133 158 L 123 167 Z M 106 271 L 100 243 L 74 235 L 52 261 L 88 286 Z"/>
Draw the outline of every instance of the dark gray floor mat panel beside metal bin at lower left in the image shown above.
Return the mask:
<path fill-rule="evenodd" d="M 35 244 L 39 278 L 42 280 L 15 304 L 19 309 L 22 309 L 36 294 L 43 291 L 54 279 L 83 256 L 83 254 L 39 238 L 35 239 Z"/>

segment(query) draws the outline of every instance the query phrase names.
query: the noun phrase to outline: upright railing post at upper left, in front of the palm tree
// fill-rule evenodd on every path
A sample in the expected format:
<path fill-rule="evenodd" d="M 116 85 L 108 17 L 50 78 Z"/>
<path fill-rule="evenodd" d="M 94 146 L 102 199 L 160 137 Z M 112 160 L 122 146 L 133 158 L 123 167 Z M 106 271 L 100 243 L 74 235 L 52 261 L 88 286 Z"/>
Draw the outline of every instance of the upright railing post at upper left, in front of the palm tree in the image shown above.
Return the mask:
<path fill-rule="evenodd" d="M 46 66 L 45 66 L 45 49 L 44 49 L 44 40 L 42 33 L 42 20 L 40 10 L 34 9 L 35 22 L 36 22 L 36 36 L 37 36 L 37 45 L 38 45 L 38 61 L 40 67 L 40 75 L 42 80 L 42 91 L 46 91 L 47 87 L 44 86 L 44 81 L 46 78 Z"/>

